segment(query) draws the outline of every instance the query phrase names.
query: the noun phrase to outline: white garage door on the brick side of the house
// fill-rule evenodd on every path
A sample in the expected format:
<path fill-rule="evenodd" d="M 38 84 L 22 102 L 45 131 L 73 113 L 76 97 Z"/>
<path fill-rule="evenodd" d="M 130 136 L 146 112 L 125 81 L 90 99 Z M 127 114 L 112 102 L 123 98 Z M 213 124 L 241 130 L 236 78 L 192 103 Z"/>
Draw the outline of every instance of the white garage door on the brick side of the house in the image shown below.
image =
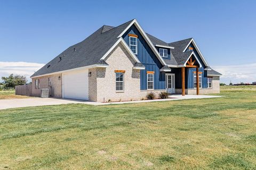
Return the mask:
<path fill-rule="evenodd" d="M 88 70 L 66 73 L 62 76 L 62 97 L 88 100 Z"/>

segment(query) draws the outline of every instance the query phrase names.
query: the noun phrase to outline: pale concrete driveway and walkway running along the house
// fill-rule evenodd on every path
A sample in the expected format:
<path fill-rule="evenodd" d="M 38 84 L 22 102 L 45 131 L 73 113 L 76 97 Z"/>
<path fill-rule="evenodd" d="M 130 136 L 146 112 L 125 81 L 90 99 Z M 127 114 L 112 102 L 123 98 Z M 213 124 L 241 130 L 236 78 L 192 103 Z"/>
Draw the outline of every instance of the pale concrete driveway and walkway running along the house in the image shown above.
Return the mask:
<path fill-rule="evenodd" d="M 47 105 L 60 105 L 60 104 L 87 104 L 87 105 L 110 105 L 110 104 L 128 104 L 128 103 L 146 103 L 153 101 L 170 101 L 170 100 L 183 100 L 183 99 L 202 99 L 214 98 L 221 96 L 207 96 L 207 95 L 171 95 L 168 99 L 155 99 L 155 100 L 138 100 L 138 101 L 119 101 L 111 103 L 99 103 L 86 100 L 73 100 L 63 98 L 26 98 L 26 99 L 3 99 L 0 100 L 0 109 L 30 107 L 30 106 L 47 106 Z"/>

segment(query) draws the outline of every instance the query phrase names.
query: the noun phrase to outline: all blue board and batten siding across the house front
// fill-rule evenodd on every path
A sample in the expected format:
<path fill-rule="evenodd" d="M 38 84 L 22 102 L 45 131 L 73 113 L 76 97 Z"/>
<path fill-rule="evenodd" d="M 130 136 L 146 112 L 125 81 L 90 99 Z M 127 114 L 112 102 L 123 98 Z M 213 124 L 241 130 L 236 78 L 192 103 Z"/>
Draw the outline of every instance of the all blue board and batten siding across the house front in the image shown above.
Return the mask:
<path fill-rule="evenodd" d="M 145 70 L 140 71 L 140 89 L 147 90 L 147 71 L 154 71 L 154 89 L 166 89 L 165 88 L 165 72 L 161 72 L 160 69 L 163 67 L 161 62 L 158 60 L 153 50 L 149 47 L 146 40 L 142 37 L 139 30 L 132 25 L 123 35 L 123 39 L 126 44 L 130 45 L 129 34 L 134 34 L 138 36 L 137 41 L 137 57 L 139 61 L 146 67 Z M 199 68 L 199 72 L 202 72 L 202 88 L 207 88 L 207 73 L 204 71 L 204 63 L 199 57 L 198 52 L 196 51 L 193 44 L 190 44 L 189 47 L 193 47 L 194 53 L 197 56 L 199 62 L 203 67 Z M 159 52 L 159 47 L 156 47 Z M 187 49 L 188 50 L 188 49 Z M 167 49 L 167 58 L 170 60 L 170 49 Z M 194 71 L 196 69 L 186 69 L 185 73 L 185 88 L 194 89 Z M 172 71 L 169 73 L 175 74 L 175 88 L 181 88 L 181 69 L 172 68 Z"/>

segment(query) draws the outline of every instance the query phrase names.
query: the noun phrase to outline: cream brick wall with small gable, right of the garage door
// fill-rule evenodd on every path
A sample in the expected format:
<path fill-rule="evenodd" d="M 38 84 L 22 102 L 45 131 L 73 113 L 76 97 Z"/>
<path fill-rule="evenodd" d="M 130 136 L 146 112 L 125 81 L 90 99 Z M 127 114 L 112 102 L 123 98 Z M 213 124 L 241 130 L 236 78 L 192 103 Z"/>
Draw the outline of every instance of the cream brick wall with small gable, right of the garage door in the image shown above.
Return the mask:
<path fill-rule="evenodd" d="M 89 78 L 89 99 L 92 101 L 130 101 L 145 99 L 150 91 L 158 93 L 165 90 L 140 90 L 140 70 L 134 70 L 134 60 L 126 49 L 119 44 L 107 56 L 107 68 L 90 69 L 92 77 Z M 115 70 L 125 70 L 124 91 L 116 91 Z M 95 77 L 97 77 L 95 79 Z"/>

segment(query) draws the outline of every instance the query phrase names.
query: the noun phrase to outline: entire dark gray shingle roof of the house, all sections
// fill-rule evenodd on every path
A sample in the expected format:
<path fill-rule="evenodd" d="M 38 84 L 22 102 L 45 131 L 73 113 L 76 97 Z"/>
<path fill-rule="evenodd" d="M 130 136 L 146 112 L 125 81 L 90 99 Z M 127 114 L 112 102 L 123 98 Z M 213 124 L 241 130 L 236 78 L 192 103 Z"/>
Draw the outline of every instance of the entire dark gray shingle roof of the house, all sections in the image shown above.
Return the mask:
<path fill-rule="evenodd" d="M 93 64 L 108 65 L 105 61 L 100 58 L 105 55 L 108 50 L 116 43 L 118 36 L 125 30 L 125 28 L 132 22 L 128 21 L 117 27 L 109 25 L 103 25 L 97 31 L 92 33 L 85 40 L 77 43 L 73 46 L 68 47 L 57 57 L 53 58 L 49 63 L 39 69 L 36 73 L 31 75 L 35 77 L 37 75 L 48 74 L 53 72 L 59 72 L 64 70 L 75 69 L 77 67 L 89 66 Z M 165 43 L 164 41 L 151 36 L 146 33 L 153 45 L 163 45 L 174 47 L 171 49 L 171 59 L 167 60 L 163 58 L 167 65 L 183 65 L 192 52 L 184 52 L 188 43 L 192 38 L 185 40 L 176 41 L 173 43 Z M 142 66 L 141 63 L 136 63 L 134 66 Z M 210 74 L 220 74 L 214 70 L 207 71 Z M 220 74 L 221 75 L 221 74 Z"/>

